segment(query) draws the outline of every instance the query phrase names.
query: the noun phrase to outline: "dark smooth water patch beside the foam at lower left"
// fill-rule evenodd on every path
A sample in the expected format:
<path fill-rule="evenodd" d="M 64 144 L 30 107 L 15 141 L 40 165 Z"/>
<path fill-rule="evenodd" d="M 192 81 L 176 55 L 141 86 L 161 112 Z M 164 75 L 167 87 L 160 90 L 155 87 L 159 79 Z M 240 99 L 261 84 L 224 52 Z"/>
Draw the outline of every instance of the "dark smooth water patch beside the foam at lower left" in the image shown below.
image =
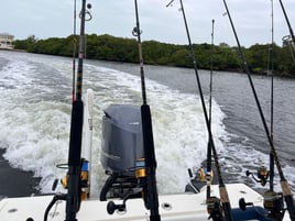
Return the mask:
<path fill-rule="evenodd" d="M 0 199 L 4 197 L 29 197 L 40 194 L 37 186 L 39 177 L 34 177 L 32 172 L 23 172 L 10 166 L 2 156 L 6 150 L 0 148 Z"/>

